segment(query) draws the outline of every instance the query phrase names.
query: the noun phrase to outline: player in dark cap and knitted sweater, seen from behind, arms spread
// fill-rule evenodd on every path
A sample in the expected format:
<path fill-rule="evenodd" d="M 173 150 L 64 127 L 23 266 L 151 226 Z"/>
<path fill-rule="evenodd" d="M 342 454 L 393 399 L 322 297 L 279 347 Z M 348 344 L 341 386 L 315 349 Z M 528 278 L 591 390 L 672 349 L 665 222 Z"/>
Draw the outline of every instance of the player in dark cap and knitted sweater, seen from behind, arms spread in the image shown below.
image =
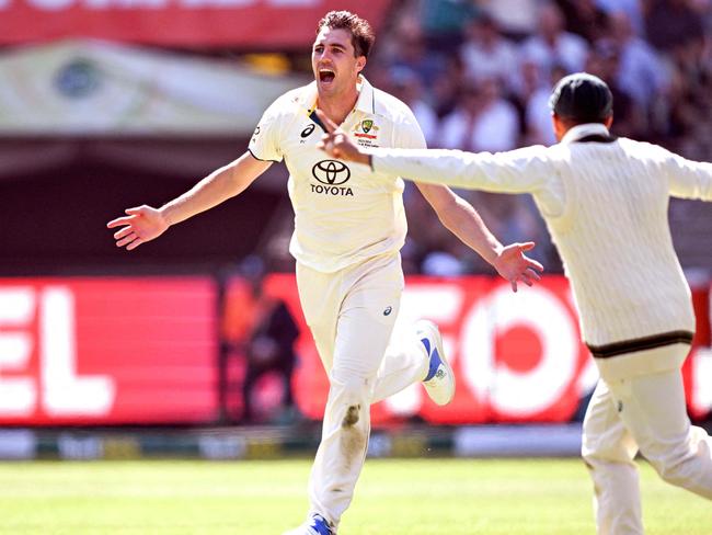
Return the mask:
<path fill-rule="evenodd" d="M 582 448 L 598 533 L 642 534 L 639 451 L 666 481 L 712 499 L 712 441 L 690 424 L 680 374 L 694 314 L 667 221 L 670 195 L 712 201 L 712 164 L 611 136 L 611 92 L 590 75 L 563 78 L 550 104 L 560 143 L 549 148 L 364 151 L 326 117 L 321 146 L 374 177 L 533 195 L 601 377 Z"/>

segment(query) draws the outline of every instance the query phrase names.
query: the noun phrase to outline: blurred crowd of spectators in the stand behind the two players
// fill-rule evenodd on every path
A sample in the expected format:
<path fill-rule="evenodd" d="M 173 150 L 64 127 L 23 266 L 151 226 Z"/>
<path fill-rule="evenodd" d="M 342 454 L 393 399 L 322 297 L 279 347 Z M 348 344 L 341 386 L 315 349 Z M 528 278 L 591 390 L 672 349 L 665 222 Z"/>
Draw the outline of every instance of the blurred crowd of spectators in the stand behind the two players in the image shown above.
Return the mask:
<path fill-rule="evenodd" d="M 615 96 L 613 134 L 696 159 L 712 149 L 712 0 L 405 0 L 378 35 L 367 77 L 406 102 L 429 147 L 509 150 L 555 143 L 553 83 L 586 70 Z M 529 196 L 458 192 L 503 241 L 560 261 Z M 406 190 L 406 272 L 485 270 Z"/>

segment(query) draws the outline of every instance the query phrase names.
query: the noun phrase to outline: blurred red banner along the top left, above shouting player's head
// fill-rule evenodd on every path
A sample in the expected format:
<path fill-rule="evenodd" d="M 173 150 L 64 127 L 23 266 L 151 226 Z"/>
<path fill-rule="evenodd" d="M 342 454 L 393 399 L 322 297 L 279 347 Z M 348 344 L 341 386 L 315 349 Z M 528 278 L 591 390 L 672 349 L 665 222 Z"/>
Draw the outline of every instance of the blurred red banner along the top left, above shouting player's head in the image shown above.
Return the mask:
<path fill-rule="evenodd" d="M 344 0 L 376 29 L 388 0 Z M 328 0 L 0 0 L 0 44 L 66 37 L 168 46 L 311 45 Z"/>

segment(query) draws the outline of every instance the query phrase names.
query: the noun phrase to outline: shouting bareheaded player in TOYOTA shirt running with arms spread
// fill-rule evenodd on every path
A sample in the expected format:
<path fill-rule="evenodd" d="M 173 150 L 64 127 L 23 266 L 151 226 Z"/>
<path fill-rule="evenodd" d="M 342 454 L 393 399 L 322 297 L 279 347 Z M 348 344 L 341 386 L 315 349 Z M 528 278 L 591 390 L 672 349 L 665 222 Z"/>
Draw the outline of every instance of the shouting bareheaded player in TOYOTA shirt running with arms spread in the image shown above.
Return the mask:
<path fill-rule="evenodd" d="M 290 252 L 297 259 L 301 306 L 330 380 L 309 485 L 311 510 L 292 532 L 303 535 L 336 533 L 363 467 L 372 402 L 421 380 L 438 405 L 455 394 L 455 377 L 433 323 L 423 321 L 411 339 L 389 345 L 403 289 L 403 181 L 329 159 L 317 146 L 320 110 L 363 147 L 425 147 L 409 107 L 360 75 L 372 44 L 366 21 L 345 11 L 328 13 L 312 48 L 314 82 L 275 101 L 244 155 L 161 208 L 129 208 L 108 224 L 120 227 L 114 235 L 118 247 L 135 249 L 241 193 L 273 162 L 286 161 L 295 209 Z M 541 265 L 524 254 L 533 243 L 502 247 L 472 206 L 450 190 L 418 187 L 443 224 L 515 291 L 517 282 L 539 278 Z"/>

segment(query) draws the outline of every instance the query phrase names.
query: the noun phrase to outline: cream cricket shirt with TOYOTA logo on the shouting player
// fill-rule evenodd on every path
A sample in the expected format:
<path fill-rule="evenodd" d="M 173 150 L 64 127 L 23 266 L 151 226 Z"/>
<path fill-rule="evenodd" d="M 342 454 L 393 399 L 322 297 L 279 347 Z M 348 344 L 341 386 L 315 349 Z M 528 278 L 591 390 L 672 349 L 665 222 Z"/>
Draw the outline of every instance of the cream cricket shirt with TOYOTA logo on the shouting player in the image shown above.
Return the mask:
<path fill-rule="evenodd" d="M 312 82 L 277 99 L 249 149 L 260 160 L 285 160 L 295 210 L 289 252 L 313 270 L 332 273 L 399 251 L 407 226 L 398 175 L 333 160 L 317 148 L 323 134 L 310 118 L 317 96 Z M 363 77 L 356 106 L 341 128 L 363 147 L 425 147 L 411 110 Z"/>

